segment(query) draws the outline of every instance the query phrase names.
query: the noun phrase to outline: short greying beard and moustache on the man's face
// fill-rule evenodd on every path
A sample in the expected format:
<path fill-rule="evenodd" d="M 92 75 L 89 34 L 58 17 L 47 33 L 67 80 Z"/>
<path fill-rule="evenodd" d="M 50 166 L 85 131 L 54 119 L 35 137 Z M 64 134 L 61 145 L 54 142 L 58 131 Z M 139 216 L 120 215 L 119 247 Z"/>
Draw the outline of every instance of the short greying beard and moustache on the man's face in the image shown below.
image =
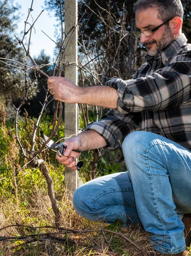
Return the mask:
<path fill-rule="evenodd" d="M 168 44 L 170 44 L 174 40 L 173 35 L 171 34 L 171 29 L 169 26 L 165 26 L 164 34 L 162 35 L 162 38 L 157 42 L 156 40 L 152 40 L 150 42 L 147 42 L 143 44 L 146 46 L 147 44 L 156 44 L 156 47 L 154 50 L 151 50 L 151 47 L 146 47 L 147 52 L 150 56 L 157 55 L 157 53 L 165 48 Z"/>

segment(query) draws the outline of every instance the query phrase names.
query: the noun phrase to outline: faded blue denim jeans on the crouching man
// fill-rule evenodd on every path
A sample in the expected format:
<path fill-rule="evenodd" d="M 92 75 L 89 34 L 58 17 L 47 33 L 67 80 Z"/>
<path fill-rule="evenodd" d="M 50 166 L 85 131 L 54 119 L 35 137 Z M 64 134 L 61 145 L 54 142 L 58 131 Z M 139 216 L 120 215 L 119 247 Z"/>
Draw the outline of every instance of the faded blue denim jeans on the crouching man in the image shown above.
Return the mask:
<path fill-rule="evenodd" d="M 91 221 L 141 222 L 162 253 L 185 250 L 184 213 L 191 213 L 191 152 L 157 134 L 135 131 L 123 142 L 128 172 L 76 189 L 74 209 Z"/>

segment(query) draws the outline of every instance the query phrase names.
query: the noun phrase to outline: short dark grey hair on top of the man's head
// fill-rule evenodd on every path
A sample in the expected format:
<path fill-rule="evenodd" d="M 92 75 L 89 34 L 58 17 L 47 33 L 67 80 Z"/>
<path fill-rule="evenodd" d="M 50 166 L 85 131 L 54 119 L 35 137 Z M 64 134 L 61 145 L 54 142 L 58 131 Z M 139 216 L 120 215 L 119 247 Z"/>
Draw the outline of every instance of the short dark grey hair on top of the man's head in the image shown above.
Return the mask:
<path fill-rule="evenodd" d="M 163 22 L 176 16 L 183 20 L 184 10 L 180 0 L 137 0 L 134 4 L 134 13 L 156 7 L 158 17 Z"/>

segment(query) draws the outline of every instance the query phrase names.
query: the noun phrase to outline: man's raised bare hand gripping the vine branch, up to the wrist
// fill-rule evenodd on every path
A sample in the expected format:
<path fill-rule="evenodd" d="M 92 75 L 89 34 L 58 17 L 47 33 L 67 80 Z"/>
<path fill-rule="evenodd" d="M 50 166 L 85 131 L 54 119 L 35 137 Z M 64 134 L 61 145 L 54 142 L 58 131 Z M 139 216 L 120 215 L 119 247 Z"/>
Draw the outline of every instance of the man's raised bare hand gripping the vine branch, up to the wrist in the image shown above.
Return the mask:
<path fill-rule="evenodd" d="M 50 93 L 54 99 L 66 103 L 78 103 L 81 88 L 65 77 L 52 76 L 47 81 Z"/>

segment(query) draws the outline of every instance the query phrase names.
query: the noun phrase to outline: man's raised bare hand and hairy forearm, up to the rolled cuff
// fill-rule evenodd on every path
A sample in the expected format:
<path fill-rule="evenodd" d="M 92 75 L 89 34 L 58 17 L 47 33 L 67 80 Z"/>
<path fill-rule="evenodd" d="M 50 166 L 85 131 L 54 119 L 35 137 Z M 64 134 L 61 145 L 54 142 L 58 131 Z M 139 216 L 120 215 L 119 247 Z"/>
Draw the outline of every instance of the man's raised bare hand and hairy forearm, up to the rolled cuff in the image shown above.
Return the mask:
<path fill-rule="evenodd" d="M 117 108 L 117 90 L 106 85 L 78 87 L 65 77 L 48 78 L 48 89 L 54 99 L 104 108 Z"/>

